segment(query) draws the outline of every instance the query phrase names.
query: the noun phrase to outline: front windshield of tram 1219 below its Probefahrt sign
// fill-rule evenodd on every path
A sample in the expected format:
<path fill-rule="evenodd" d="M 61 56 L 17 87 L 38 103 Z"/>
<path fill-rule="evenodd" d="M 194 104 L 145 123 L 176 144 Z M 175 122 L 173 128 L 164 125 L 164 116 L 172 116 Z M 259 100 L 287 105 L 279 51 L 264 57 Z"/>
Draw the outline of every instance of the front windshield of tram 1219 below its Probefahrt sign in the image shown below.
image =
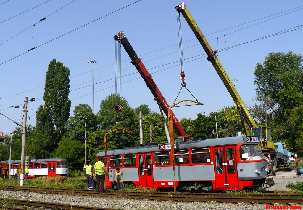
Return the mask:
<path fill-rule="evenodd" d="M 243 161 L 264 160 L 265 157 L 258 144 L 244 144 L 240 147 L 240 158 Z"/>

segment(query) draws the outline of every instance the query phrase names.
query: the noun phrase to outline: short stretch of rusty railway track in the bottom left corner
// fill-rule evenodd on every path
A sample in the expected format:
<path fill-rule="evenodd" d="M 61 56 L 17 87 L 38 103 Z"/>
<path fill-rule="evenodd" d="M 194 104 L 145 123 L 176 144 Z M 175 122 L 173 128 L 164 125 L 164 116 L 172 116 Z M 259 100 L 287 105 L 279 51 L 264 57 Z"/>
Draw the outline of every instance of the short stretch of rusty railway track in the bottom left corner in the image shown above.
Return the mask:
<path fill-rule="evenodd" d="M 0 198 L 0 201 L 3 201 L 3 198 Z M 13 200 L 15 205 L 21 205 L 20 207 L 9 207 L 5 206 L 2 207 L 1 209 L 9 209 L 9 210 L 14 210 L 14 209 L 26 209 L 27 206 L 34 206 L 34 208 L 53 208 L 53 209 L 65 209 L 65 210 L 91 210 L 91 209 L 96 209 L 96 210 L 117 210 L 116 208 L 100 208 L 100 207 L 91 207 L 91 206 L 79 206 L 79 205 L 70 205 L 70 204 L 61 204 L 61 203 L 48 203 L 48 202 L 40 202 L 40 201 L 27 201 L 27 200 L 19 200 L 19 199 L 14 199 Z M 25 208 L 23 207 L 25 206 Z"/>

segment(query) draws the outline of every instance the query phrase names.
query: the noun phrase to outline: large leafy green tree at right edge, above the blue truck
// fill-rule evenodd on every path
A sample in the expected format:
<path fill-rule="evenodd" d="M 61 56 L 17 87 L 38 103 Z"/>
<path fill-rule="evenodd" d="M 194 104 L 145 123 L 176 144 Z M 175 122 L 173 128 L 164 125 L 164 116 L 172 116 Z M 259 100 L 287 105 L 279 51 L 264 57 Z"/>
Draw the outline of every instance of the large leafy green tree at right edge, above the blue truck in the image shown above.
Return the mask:
<path fill-rule="evenodd" d="M 298 135 L 303 124 L 299 119 L 303 106 L 303 57 L 291 51 L 269 53 L 263 63 L 257 64 L 254 83 L 258 99 L 271 98 L 279 113 L 270 125 L 273 140 L 285 140 L 303 151 Z"/>

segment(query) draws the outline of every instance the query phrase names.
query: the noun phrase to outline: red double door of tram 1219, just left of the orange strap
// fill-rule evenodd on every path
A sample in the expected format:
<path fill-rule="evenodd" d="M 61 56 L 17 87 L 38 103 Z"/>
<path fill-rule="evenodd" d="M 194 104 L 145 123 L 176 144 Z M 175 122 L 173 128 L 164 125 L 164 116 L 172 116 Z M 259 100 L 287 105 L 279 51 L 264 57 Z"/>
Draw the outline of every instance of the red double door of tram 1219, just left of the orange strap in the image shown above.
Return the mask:
<path fill-rule="evenodd" d="M 139 186 L 154 187 L 151 153 L 139 155 Z"/>

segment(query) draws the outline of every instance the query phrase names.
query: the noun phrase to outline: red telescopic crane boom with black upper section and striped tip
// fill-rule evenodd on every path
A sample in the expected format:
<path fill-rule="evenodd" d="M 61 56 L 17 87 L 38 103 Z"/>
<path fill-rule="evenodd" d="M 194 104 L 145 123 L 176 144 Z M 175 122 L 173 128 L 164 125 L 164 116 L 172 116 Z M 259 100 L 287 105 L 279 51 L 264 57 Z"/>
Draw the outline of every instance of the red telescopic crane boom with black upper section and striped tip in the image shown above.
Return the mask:
<path fill-rule="evenodd" d="M 154 80 L 152 79 L 152 76 L 150 73 L 148 73 L 147 69 L 145 68 L 144 64 L 142 63 L 141 59 L 136 54 L 135 50 L 132 48 L 131 44 L 128 42 L 127 38 L 125 37 L 125 34 L 123 31 L 120 31 L 117 35 L 114 36 L 114 40 L 119 41 L 119 43 L 124 47 L 126 53 L 131 58 L 131 63 L 135 65 L 137 68 L 139 74 L 147 84 L 147 87 L 151 91 L 151 93 L 154 95 L 155 101 L 157 101 L 158 105 L 161 106 L 163 112 L 168 117 L 168 108 L 169 105 L 166 102 L 164 96 L 161 94 L 158 86 L 155 84 Z M 182 126 L 180 125 L 180 122 L 176 118 L 175 114 L 172 112 L 172 119 L 174 121 L 173 127 L 175 131 L 178 134 L 178 137 L 176 138 L 176 142 L 184 142 L 184 141 L 192 141 L 195 140 L 192 137 L 189 137 Z"/>

